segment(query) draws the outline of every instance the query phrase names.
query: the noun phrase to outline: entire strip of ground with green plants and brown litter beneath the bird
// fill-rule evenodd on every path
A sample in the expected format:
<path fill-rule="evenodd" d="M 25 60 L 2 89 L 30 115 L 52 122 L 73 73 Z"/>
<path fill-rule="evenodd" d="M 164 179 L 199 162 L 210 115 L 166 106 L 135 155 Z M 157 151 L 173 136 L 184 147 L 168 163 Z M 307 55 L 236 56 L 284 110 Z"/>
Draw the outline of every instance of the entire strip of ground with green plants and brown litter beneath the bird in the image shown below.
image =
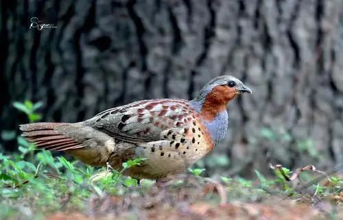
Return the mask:
<path fill-rule="evenodd" d="M 18 153 L 0 153 L 0 219 L 343 219 L 342 167 L 270 164 L 270 175 L 249 179 L 193 167 L 138 181 L 123 173 L 144 158 L 116 171 L 18 143 Z"/>

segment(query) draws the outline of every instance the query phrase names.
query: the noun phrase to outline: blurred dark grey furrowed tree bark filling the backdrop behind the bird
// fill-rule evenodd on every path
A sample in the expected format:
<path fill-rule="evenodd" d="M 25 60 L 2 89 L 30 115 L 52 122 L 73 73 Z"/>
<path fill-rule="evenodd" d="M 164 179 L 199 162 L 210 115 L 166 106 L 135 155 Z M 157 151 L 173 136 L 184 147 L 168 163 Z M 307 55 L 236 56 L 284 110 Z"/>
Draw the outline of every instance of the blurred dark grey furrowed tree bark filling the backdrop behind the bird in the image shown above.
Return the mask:
<path fill-rule="evenodd" d="M 12 106 L 75 122 L 139 99 L 192 99 L 217 75 L 253 90 L 228 105 L 209 175 L 343 161 L 343 1 L 0 2 L 1 151 L 16 151 Z M 32 17 L 56 28 L 29 28 Z M 15 135 L 14 135 L 15 134 Z"/>

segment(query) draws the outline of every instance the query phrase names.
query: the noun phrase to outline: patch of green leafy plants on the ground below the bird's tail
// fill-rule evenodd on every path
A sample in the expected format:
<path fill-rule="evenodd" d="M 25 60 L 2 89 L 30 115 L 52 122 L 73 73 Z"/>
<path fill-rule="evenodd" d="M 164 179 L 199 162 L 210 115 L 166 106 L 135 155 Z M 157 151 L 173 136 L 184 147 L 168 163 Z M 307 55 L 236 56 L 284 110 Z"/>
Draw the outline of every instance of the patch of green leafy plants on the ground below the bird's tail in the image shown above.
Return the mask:
<path fill-rule="evenodd" d="M 137 180 L 123 176 L 130 167 L 139 165 L 141 158 L 123 163 L 123 169 L 110 167 L 95 169 L 80 162 L 69 162 L 64 157 L 54 157 L 49 151 L 34 149 L 19 138 L 21 153 L 0 154 L 0 216 L 12 215 L 20 203 L 34 207 L 38 212 L 54 212 L 63 209 L 83 210 L 85 201 L 92 196 L 122 195 L 128 188 L 138 185 Z M 25 143 L 25 146 L 22 144 Z M 25 158 L 34 151 L 34 159 Z M 68 197 L 64 207 L 61 199 Z"/>

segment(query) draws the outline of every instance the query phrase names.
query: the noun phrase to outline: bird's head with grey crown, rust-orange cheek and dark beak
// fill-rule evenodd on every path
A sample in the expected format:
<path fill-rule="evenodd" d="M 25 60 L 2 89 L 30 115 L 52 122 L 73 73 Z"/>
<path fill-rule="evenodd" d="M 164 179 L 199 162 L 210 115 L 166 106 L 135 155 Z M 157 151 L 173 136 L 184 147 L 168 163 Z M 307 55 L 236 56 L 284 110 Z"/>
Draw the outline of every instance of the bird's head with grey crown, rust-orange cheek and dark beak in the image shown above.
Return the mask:
<path fill-rule="evenodd" d="M 212 117 L 213 114 L 226 110 L 228 102 L 242 93 L 252 93 L 252 91 L 237 78 L 222 75 L 208 82 L 192 102 L 197 103 L 199 112 L 206 110 Z"/>

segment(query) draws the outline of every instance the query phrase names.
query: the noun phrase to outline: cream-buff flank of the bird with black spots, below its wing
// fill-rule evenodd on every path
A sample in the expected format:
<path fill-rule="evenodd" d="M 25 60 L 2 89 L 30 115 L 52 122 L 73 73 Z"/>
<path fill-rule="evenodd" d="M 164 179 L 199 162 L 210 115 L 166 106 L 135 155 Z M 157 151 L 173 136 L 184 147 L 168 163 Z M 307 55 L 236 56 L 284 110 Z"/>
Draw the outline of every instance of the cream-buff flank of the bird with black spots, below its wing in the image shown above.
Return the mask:
<path fill-rule="evenodd" d="M 148 159 L 147 169 L 150 173 L 177 173 L 213 149 L 213 143 L 206 138 L 209 135 L 206 128 L 201 123 L 193 122 L 189 127 L 161 132 L 163 140 L 137 147 L 137 155 Z"/>

